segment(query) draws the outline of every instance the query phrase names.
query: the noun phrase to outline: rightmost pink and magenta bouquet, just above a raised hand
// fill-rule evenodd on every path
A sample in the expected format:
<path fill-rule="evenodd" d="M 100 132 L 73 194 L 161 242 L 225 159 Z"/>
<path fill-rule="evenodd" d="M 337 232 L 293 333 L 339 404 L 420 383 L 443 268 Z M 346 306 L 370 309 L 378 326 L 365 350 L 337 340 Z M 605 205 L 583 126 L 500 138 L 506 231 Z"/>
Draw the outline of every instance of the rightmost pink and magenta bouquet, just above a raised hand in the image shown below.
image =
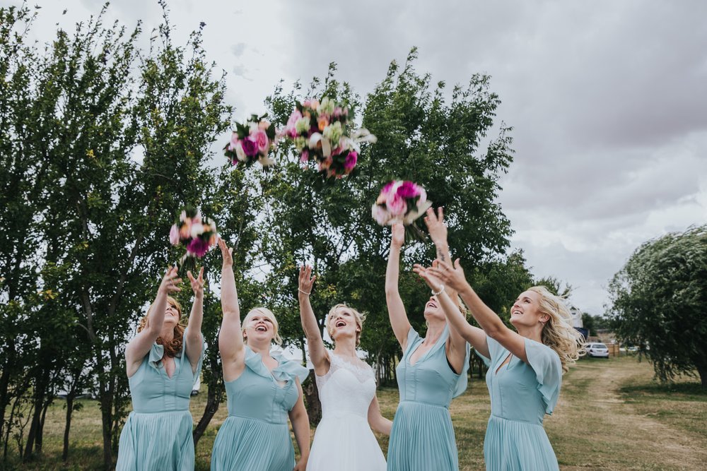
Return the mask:
<path fill-rule="evenodd" d="M 382 226 L 400 223 L 419 236 L 422 233 L 414 222 L 431 205 L 422 186 L 408 180 L 393 180 L 380 190 L 371 208 L 371 215 Z"/>

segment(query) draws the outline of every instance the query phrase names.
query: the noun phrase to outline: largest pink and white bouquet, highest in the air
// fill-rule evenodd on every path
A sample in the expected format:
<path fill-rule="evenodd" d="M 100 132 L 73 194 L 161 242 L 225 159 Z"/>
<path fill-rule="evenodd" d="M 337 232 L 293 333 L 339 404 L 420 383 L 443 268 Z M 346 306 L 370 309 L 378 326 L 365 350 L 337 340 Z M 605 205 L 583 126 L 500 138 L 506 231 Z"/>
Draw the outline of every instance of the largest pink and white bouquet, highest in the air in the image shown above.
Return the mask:
<path fill-rule="evenodd" d="M 294 141 L 301 162 L 316 160 L 325 177 L 341 178 L 356 167 L 360 144 L 376 141 L 366 129 L 348 127 L 349 109 L 324 97 L 298 103 L 279 133 Z"/>

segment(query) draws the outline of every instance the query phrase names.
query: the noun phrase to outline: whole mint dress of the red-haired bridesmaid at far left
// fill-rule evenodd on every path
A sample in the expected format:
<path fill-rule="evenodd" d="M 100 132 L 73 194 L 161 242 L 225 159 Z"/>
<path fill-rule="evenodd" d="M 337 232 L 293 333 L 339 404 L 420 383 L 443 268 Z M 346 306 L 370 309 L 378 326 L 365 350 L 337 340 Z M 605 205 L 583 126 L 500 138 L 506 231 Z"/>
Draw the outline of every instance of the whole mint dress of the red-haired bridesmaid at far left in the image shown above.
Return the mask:
<path fill-rule="evenodd" d="M 128 378 L 133 411 L 120 432 L 117 471 L 194 470 L 189 398 L 201 371 L 204 345 L 194 372 L 186 345 L 182 342 L 175 357 L 171 378 L 162 364 L 164 347 L 156 343 Z"/>

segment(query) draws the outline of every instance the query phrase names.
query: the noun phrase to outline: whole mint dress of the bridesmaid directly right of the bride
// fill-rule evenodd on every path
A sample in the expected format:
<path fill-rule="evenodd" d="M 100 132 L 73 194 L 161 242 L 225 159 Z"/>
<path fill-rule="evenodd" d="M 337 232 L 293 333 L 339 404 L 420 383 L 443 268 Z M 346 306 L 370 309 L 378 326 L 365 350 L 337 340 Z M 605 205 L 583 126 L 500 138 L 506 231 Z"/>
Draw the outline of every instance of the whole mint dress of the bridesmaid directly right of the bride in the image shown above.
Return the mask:
<path fill-rule="evenodd" d="M 459 469 L 449 405 L 467 388 L 469 344 L 461 374 L 447 360 L 449 326 L 414 365 L 410 355 L 423 339 L 410 328 L 407 348 L 395 369 L 400 403 L 388 442 L 388 471 L 456 471 Z"/>

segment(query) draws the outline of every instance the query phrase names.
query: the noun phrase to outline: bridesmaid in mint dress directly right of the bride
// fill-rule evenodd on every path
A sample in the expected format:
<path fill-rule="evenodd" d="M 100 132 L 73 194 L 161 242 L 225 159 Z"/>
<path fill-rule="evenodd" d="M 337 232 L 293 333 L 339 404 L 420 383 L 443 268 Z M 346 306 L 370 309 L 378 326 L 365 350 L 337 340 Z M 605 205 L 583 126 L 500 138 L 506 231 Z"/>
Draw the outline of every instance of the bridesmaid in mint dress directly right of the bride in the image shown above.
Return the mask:
<path fill-rule="evenodd" d="M 390 432 L 387 469 L 455 471 L 459 458 L 449 405 L 467 388 L 469 345 L 448 327 L 437 292 L 425 305 L 425 338 L 410 325 L 398 292 L 403 242 L 403 226 L 392 226 L 385 299 L 390 324 L 404 353 L 396 369 L 400 403 Z"/>

